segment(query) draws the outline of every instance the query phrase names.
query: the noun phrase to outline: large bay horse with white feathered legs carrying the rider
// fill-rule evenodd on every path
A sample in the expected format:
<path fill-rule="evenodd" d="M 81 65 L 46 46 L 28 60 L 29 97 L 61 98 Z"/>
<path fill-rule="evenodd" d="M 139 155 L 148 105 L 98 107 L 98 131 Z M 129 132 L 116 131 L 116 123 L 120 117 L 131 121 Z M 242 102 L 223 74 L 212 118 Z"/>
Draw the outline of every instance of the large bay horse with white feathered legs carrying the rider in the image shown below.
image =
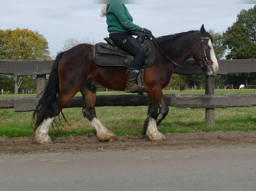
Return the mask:
<path fill-rule="evenodd" d="M 143 86 L 144 92 L 148 94 L 148 111 L 142 134 L 149 141 L 161 141 L 165 136 L 157 130 L 157 126 L 169 111 L 162 90 L 169 84 L 173 70 L 193 57 L 207 76 L 215 76 L 218 62 L 213 49 L 213 38 L 206 32 L 204 25 L 200 31 L 152 37 L 152 41 L 153 39 L 154 64 L 143 68 Z M 35 142 L 52 143 L 48 130 L 54 118 L 62 113 L 65 105 L 79 91 L 84 98 L 82 113 L 95 128 L 98 140 L 115 140 L 115 133 L 109 131 L 96 116 L 96 91 L 97 85 L 124 91 L 126 70 L 125 67 L 98 66 L 94 59 L 94 45 L 91 44 L 80 44 L 59 53 L 53 63 L 44 93 L 33 113 L 31 124 L 35 125 Z M 65 119 L 65 116 L 63 117 Z"/>

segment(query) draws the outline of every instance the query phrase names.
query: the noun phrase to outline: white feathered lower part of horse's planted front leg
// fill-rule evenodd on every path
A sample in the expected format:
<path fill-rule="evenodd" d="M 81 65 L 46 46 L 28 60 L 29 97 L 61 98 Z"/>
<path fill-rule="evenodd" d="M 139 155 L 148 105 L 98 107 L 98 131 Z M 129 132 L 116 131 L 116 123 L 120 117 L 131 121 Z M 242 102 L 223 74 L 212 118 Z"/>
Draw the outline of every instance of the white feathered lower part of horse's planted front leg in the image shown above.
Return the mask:
<path fill-rule="evenodd" d="M 155 119 L 149 118 L 146 137 L 149 141 L 165 140 L 165 136 L 157 130 Z"/>

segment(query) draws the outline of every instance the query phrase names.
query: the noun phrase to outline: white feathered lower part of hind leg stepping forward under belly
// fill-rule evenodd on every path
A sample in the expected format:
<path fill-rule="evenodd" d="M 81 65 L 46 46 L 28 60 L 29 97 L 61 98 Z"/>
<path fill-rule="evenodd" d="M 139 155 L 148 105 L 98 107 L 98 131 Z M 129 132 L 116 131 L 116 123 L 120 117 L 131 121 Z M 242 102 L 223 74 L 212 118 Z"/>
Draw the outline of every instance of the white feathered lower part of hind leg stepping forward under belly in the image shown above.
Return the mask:
<path fill-rule="evenodd" d="M 109 131 L 98 118 L 94 117 L 91 121 L 92 126 L 97 132 L 97 137 L 100 141 L 114 141 L 116 139 L 115 133 Z"/>

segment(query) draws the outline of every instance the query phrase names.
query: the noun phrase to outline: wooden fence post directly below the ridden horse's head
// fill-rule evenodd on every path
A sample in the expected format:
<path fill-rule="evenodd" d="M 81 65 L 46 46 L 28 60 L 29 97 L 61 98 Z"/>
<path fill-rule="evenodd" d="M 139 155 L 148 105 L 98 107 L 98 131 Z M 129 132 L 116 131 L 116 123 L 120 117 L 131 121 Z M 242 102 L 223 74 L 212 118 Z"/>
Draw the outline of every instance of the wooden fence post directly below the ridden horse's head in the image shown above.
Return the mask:
<path fill-rule="evenodd" d="M 214 95 L 214 76 L 205 76 L 205 94 Z M 205 108 L 205 122 L 215 127 L 215 108 Z"/>

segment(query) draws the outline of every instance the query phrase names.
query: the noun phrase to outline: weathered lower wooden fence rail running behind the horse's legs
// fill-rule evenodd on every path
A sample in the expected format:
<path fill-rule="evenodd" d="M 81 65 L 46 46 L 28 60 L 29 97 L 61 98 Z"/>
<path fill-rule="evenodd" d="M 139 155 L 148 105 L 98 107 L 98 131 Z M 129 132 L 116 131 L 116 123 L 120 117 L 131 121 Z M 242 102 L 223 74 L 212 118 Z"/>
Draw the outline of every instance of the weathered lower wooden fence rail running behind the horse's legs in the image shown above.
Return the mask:
<path fill-rule="evenodd" d="M 147 106 L 148 96 L 97 95 L 96 107 L 102 106 Z M 164 95 L 167 105 L 190 108 L 227 108 L 256 106 L 256 94 L 241 95 Z M 33 111 L 40 97 L 0 98 L 0 109 L 14 108 L 15 112 Z M 82 107 L 83 97 L 73 97 L 65 108 Z"/>

